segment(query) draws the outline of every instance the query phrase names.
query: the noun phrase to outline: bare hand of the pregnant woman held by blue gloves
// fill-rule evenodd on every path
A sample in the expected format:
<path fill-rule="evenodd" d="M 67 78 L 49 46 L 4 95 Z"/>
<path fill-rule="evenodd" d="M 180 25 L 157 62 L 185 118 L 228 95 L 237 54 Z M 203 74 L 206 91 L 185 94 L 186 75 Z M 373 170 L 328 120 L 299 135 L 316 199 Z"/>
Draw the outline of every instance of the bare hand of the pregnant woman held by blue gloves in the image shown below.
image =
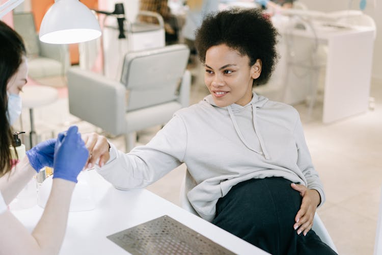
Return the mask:
<path fill-rule="evenodd" d="M 86 168 L 92 168 L 98 159 L 98 165 L 100 167 L 103 166 L 110 159 L 110 145 L 107 139 L 96 133 L 83 134 L 82 138 L 90 152 L 89 159 L 86 162 Z"/>

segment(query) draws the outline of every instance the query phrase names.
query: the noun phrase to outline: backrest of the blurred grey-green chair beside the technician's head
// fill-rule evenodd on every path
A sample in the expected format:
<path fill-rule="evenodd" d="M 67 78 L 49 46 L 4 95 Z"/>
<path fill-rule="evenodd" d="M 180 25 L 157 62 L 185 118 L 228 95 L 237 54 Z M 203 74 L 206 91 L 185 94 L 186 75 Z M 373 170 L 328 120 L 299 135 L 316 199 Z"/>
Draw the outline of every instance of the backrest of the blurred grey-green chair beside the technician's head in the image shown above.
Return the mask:
<path fill-rule="evenodd" d="M 38 57 L 40 55 L 40 46 L 33 14 L 31 12 L 14 13 L 13 25 L 15 31 L 24 40 L 28 57 Z"/>

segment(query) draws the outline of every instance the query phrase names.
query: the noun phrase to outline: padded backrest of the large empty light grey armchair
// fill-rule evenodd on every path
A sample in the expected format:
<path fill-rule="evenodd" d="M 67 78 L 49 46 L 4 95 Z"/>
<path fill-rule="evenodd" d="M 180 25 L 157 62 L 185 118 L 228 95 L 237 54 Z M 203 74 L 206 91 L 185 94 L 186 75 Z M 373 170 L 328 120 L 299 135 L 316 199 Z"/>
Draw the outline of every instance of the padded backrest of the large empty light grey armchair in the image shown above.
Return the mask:
<path fill-rule="evenodd" d="M 177 99 L 188 55 L 183 44 L 126 54 L 121 76 L 128 90 L 126 110 Z"/>

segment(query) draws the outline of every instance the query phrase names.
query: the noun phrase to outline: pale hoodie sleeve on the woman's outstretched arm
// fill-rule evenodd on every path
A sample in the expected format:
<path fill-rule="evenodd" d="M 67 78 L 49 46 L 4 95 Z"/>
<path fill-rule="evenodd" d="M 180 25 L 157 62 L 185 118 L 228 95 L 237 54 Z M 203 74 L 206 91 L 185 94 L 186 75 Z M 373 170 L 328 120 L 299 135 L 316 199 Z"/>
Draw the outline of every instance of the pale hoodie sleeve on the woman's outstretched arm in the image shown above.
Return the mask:
<path fill-rule="evenodd" d="M 182 118 L 175 115 L 149 143 L 128 154 L 111 144 L 110 161 L 96 169 L 117 189 L 144 188 L 179 166 L 186 147 L 186 127 Z"/>

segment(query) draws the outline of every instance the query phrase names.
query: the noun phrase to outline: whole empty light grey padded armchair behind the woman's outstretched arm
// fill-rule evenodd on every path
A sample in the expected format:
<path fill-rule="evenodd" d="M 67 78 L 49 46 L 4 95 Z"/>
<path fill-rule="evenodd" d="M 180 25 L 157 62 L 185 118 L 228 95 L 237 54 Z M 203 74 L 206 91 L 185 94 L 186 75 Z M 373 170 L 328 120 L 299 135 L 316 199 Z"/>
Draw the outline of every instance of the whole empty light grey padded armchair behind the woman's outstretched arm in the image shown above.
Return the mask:
<path fill-rule="evenodd" d="M 121 82 L 70 68 L 69 112 L 108 133 L 125 135 L 126 151 L 130 151 L 135 132 L 165 124 L 188 106 L 188 55 L 183 44 L 128 53 Z"/>

